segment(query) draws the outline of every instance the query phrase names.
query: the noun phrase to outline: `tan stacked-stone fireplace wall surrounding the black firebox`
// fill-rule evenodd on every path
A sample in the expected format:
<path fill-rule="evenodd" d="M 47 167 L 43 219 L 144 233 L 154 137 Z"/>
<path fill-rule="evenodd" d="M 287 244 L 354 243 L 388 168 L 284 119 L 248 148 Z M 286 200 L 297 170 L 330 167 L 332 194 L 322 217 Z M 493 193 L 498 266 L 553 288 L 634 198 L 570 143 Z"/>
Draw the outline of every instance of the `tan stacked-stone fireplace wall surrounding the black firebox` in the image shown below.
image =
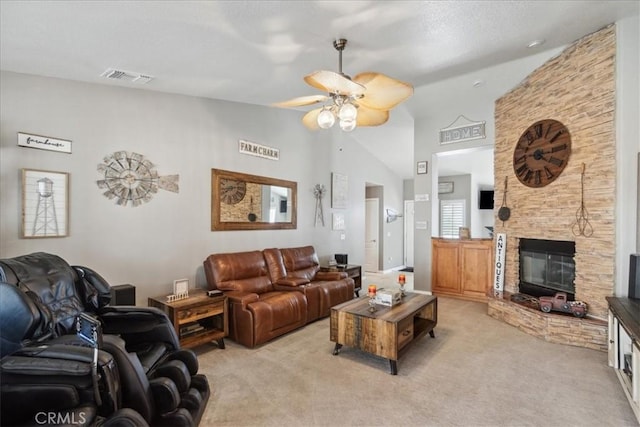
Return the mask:
<path fill-rule="evenodd" d="M 496 101 L 495 232 L 506 233 L 505 291 L 517 292 L 520 238 L 576 243 L 576 299 L 589 316 L 604 319 L 606 296 L 613 295 L 615 270 L 615 27 L 587 35 L 533 71 Z M 562 175 L 542 188 L 521 184 L 513 170 L 520 135 L 538 120 L 555 119 L 571 133 L 571 157 Z M 572 226 L 581 202 L 593 227 L 590 237 Z M 511 218 L 497 217 L 508 177 Z"/>

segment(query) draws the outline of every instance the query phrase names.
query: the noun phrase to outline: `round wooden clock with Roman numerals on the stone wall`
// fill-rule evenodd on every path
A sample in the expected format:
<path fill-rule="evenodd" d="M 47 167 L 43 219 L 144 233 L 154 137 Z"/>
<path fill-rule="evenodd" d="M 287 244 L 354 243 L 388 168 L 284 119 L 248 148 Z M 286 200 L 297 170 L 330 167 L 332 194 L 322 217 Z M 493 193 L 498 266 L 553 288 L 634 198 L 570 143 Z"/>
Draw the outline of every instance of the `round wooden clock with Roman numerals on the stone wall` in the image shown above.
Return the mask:
<path fill-rule="evenodd" d="M 555 181 L 569 162 L 571 134 L 557 120 L 529 126 L 513 151 L 513 171 L 527 187 L 540 188 Z"/>

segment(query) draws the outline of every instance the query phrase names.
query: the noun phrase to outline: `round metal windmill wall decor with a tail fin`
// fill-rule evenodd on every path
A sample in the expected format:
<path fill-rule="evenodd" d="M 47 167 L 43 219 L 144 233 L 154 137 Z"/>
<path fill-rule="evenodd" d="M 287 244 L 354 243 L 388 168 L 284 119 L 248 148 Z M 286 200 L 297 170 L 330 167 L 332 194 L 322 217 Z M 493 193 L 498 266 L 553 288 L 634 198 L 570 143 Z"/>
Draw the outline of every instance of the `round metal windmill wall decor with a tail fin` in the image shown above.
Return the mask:
<path fill-rule="evenodd" d="M 116 151 L 98 165 L 103 179 L 96 181 L 108 199 L 119 206 L 140 206 L 150 202 L 158 189 L 178 193 L 180 175 L 159 176 L 155 165 L 142 154 Z"/>

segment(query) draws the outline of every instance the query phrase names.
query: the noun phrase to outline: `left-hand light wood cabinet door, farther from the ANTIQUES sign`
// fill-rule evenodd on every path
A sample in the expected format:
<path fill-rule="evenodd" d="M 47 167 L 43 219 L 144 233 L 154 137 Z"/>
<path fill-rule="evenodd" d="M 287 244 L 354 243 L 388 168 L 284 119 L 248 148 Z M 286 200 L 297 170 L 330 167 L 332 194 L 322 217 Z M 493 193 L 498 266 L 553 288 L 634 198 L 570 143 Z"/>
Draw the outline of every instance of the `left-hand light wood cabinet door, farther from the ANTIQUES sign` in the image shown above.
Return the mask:
<path fill-rule="evenodd" d="M 460 293 L 458 244 L 433 241 L 431 287 L 435 292 Z"/>

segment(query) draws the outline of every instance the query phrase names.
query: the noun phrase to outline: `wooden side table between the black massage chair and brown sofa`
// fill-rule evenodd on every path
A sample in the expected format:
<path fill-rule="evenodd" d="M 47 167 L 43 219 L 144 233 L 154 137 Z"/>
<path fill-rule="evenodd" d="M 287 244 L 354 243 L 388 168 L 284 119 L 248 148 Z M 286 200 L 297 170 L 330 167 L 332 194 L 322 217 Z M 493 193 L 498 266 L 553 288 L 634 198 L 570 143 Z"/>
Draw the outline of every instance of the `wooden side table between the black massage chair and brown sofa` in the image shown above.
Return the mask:
<path fill-rule="evenodd" d="M 204 289 L 190 289 L 189 297 L 167 301 L 167 295 L 149 298 L 149 307 L 164 311 L 173 323 L 180 338 L 180 346 L 196 347 L 217 341 L 224 348 L 224 337 L 229 333 L 227 297 L 207 296 Z"/>

